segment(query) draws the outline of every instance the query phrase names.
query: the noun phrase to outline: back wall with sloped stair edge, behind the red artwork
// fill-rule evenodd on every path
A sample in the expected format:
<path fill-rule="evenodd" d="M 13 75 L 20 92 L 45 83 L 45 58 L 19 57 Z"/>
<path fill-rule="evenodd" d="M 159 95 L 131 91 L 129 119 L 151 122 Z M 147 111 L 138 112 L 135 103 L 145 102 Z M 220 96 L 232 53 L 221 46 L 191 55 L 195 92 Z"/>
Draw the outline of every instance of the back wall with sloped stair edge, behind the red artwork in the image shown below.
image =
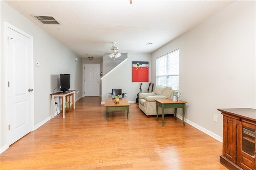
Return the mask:
<path fill-rule="evenodd" d="M 102 102 L 110 98 L 108 93 L 112 89 L 122 89 L 123 93 L 127 93 L 125 97 L 129 102 L 135 102 L 137 93 L 139 93 L 141 82 L 132 82 L 132 61 L 148 61 L 149 62 L 149 81 L 151 77 L 151 55 L 148 53 L 128 53 L 127 60 L 118 65 L 106 77 L 102 77 Z M 142 82 L 142 92 L 148 89 L 148 82 Z"/>

